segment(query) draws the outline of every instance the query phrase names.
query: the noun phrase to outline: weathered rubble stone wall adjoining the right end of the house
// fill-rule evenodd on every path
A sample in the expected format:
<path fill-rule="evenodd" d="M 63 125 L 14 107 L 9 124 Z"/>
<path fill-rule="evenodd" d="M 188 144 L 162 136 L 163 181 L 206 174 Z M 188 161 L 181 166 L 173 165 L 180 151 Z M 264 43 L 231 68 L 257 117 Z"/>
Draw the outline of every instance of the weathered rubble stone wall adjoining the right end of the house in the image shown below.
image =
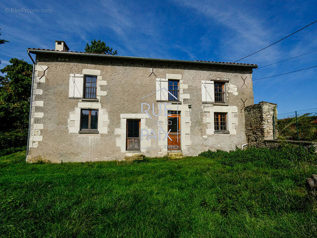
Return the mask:
<path fill-rule="evenodd" d="M 263 147 L 264 140 L 272 140 L 277 137 L 276 119 L 273 125 L 273 115 L 276 118 L 276 104 L 259 102 L 245 107 L 245 135 L 248 146 Z M 273 135 L 275 134 L 275 136 Z"/>

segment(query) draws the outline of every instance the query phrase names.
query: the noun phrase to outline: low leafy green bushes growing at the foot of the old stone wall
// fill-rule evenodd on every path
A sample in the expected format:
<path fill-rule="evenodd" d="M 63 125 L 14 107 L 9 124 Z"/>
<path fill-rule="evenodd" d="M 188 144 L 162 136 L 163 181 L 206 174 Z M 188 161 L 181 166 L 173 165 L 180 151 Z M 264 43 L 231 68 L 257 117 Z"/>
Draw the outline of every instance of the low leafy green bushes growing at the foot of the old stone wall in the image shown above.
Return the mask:
<path fill-rule="evenodd" d="M 247 148 L 246 150 L 237 149 L 235 151 L 225 152 L 205 151 L 200 156 L 216 159 L 224 165 L 234 166 L 241 163 L 254 163 L 256 166 L 269 166 L 272 168 L 289 168 L 297 162 L 317 162 L 315 148 L 304 148 L 303 146 L 287 145 L 285 147 L 268 148 Z"/>

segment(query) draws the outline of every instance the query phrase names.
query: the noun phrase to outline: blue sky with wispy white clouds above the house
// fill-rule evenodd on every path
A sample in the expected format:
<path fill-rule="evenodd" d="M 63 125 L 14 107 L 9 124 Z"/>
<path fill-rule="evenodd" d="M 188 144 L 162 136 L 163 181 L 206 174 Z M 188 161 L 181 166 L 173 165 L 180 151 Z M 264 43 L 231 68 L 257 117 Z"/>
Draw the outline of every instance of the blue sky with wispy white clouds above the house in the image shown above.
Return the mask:
<path fill-rule="evenodd" d="M 26 49 L 64 40 L 83 51 L 101 39 L 118 55 L 234 62 L 317 20 L 316 1 L 2 1 L 0 68 Z M 9 8 L 9 12 L 5 9 Z M 51 13 L 11 12 L 51 9 Z M 317 23 L 240 61 L 259 67 L 317 50 Z M 254 70 L 253 79 L 317 65 L 317 52 Z M 317 67 L 253 82 L 255 103 L 278 112 L 317 107 Z"/>

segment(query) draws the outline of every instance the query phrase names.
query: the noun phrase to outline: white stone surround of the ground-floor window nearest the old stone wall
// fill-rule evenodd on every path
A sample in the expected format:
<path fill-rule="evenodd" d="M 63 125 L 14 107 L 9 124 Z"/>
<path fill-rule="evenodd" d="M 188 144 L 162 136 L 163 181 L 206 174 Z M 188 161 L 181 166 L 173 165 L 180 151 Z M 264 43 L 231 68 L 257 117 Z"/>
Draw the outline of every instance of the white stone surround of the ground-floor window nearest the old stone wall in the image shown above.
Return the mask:
<path fill-rule="evenodd" d="M 227 130 L 230 135 L 236 135 L 236 126 L 238 125 L 238 119 L 236 115 L 238 108 L 236 106 L 204 106 L 205 116 L 203 117 L 204 123 L 207 124 L 206 135 L 221 134 L 215 133 L 214 113 L 227 113 Z"/>

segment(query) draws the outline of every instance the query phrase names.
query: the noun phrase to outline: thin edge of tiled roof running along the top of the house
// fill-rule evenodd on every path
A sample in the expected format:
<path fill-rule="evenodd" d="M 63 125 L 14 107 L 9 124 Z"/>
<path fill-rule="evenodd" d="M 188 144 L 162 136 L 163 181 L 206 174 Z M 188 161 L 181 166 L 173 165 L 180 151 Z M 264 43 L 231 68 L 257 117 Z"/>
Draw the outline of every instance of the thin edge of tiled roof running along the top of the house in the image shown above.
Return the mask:
<path fill-rule="evenodd" d="M 61 51 L 61 50 L 49 50 L 49 49 L 40 49 L 40 48 L 28 48 L 27 50 L 43 50 L 43 51 L 54 51 L 54 52 L 65 52 L 65 53 L 78 53 L 78 54 L 87 54 L 87 55 L 107 55 L 105 53 L 97 54 L 97 53 L 88 53 L 88 52 L 82 52 L 82 51 Z M 112 56 L 112 55 L 107 55 Z M 151 59 L 151 60 L 167 60 L 167 59 L 155 59 L 155 58 L 143 58 L 143 57 L 130 57 L 130 56 L 113 56 L 113 57 L 125 57 L 125 58 L 139 58 L 139 59 Z M 171 60 L 171 61 L 179 61 L 179 62 L 202 62 L 202 63 L 215 63 L 215 64 L 236 64 L 236 65 L 246 65 L 246 66 L 252 66 L 252 68 L 257 68 L 257 64 L 246 64 L 246 63 L 231 63 L 231 62 L 218 62 L 218 61 L 206 61 L 206 60 Z"/>

